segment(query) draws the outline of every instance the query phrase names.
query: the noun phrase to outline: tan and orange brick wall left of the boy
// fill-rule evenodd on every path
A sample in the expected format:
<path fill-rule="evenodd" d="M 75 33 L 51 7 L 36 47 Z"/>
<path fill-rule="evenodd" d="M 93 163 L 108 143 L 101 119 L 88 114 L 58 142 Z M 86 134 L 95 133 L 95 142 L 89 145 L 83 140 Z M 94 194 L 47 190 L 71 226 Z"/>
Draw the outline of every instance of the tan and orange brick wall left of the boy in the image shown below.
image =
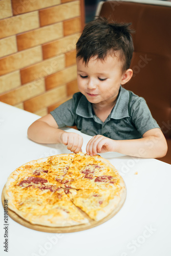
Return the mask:
<path fill-rule="evenodd" d="M 78 91 L 81 10 L 82 0 L 0 1 L 0 101 L 44 116 Z"/>

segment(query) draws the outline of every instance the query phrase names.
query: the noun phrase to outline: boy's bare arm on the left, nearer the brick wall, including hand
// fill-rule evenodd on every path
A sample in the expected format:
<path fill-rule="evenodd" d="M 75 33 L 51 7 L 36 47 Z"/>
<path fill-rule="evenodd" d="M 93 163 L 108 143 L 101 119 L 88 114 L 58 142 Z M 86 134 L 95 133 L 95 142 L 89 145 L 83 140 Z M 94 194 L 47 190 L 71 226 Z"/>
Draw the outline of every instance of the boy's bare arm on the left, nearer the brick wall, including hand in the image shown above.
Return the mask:
<path fill-rule="evenodd" d="M 62 143 L 68 150 L 77 153 L 81 150 L 83 139 L 76 133 L 68 133 L 58 129 L 58 125 L 51 114 L 39 118 L 28 128 L 28 138 L 37 143 Z"/>

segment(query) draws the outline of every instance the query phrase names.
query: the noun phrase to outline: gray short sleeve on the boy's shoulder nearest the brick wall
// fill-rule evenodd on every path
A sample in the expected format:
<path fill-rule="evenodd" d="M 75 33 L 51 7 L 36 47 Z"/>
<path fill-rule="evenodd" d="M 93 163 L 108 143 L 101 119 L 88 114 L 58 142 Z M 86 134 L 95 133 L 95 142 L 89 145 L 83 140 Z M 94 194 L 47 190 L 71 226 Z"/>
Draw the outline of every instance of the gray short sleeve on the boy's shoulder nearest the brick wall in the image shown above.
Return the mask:
<path fill-rule="evenodd" d="M 58 127 L 75 125 L 75 112 L 79 96 L 80 93 L 75 93 L 72 99 L 62 103 L 58 108 L 50 112 Z"/>

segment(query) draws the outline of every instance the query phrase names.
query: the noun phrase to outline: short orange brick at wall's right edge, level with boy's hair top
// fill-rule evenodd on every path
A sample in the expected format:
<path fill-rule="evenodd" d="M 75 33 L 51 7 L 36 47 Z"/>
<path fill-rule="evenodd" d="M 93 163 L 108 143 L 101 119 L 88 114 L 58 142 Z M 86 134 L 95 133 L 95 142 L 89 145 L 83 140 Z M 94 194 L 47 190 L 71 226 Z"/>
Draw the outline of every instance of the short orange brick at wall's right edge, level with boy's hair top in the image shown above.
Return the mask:
<path fill-rule="evenodd" d="M 63 35 L 71 35 L 81 32 L 81 18 L 76 17 L 73 19 L 65 20 L 63 22 Z"/>

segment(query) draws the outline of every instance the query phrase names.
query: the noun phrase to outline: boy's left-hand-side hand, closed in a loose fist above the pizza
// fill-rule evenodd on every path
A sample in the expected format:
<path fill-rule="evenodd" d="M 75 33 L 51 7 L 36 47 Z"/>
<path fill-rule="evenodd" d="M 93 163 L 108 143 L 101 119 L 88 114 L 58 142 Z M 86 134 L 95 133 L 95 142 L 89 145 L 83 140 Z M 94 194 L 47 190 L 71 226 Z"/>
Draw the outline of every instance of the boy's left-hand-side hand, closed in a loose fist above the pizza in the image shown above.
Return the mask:
<path fill-rule="evenodd" d="M 76 133 L 62 132 L 60 135 L 60 143 L 67 145 L 68 150 L 74 153 L 82 152 L 82 136 Z"/>

